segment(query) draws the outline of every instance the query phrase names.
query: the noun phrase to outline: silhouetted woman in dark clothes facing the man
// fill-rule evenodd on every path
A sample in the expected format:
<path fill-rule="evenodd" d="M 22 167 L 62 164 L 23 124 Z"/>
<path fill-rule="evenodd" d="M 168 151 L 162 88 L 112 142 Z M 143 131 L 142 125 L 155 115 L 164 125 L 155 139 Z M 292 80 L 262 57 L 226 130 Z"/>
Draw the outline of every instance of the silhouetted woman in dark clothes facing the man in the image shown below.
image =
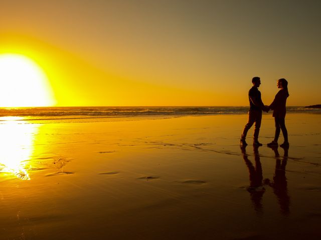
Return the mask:
<path fill-rule="evenodd" d="M 287 90 L 287 80 L 284 78 L 277 80 L 277 88 L 281 88 L 275 95 L 273 102 L 269 105 L 270 109 L 273 109 L 273 116 L 275 120 L 275 135 L 274 140 L 267 143 L 268 146 L 277 146 L 277 140 L 280 135 L 280 129 L 284 137 L 284 142 L 280 145 L 281 147 L 286 147 L 289 145 L 287 139 L 287 130 L 285 127 L 285 112 L 286 112 L 286 98 L 289 96 Z"/>

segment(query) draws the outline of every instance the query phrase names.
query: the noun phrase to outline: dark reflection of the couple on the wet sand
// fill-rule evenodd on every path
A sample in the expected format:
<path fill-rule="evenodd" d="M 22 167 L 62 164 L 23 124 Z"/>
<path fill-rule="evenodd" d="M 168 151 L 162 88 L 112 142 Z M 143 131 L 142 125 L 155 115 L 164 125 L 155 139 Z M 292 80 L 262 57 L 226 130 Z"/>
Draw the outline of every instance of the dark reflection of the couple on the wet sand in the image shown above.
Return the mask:
<path fill-rule="evenodd" d="M 288 215 L 290 197 L 287 194 L 287 181 L 285 177 L 285 166 L 288 156 L 288 147 L 283 148 L 284 155 L 282 160 L 280 159 L 280 155 L 277 149 L 278 147 L 271 146 L 271 148 L 274 151 L 276 159 L 273 181 L 271 181 L 268 178 L 265 178 L 263 180 L 263 171 L 260 162 L 258 146 L 253 146 L 255 165 L 252 163 L 252 161 L 249 160 L 249 155 L 246 153 L 245 146 L 241 146 L 243 159 L 249 170 L 250 186 L 247 188 L 247 190 L 250 193 L 250 197 L 255 211 L 262 212 L 262 197 L 265 192 L 264 185 L 271 186 L 280 205 L 281 213 L 284 215 Z"/>

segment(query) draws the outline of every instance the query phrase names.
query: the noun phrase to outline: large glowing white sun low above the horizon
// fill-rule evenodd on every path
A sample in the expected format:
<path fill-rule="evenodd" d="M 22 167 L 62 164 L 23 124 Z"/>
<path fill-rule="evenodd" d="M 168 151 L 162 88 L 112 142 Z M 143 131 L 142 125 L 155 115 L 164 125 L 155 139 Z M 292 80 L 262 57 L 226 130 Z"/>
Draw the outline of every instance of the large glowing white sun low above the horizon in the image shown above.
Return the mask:
<path fill-rule="evenodd" d="M 21 54 L 0 54 L 0 106 L 54 104 L 50 82 L 36 62 Z"/>

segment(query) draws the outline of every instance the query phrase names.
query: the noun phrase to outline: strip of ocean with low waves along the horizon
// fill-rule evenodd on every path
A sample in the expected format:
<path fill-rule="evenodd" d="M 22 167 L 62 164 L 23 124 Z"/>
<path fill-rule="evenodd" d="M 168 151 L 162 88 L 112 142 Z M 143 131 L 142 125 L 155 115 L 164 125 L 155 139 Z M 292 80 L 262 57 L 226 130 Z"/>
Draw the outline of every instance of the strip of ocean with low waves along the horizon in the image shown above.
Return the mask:
<path fill-rule="evenodd" d="M 81 119 L 111 117 L 242 114 L 248 106 L 73 106 L 1 107 L 0 120 Z M 271 113 L 270 111 L 269 113 Z M 288 113 L 321 113 L 320 108 L 288 106 Z M 16 117 L 16 118 L 15 118 Z"/>

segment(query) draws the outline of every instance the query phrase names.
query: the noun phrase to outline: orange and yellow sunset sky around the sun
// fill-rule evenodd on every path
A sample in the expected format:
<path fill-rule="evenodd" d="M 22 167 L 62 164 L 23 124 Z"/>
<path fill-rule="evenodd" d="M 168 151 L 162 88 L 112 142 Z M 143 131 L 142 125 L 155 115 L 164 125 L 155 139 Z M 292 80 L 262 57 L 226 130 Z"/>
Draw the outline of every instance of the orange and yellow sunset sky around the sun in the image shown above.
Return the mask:
<path fill-rule="evenodd" d="M 0 54 L 35 61 L 59 106 L 248 105 L 253 76 L 265 104 L 281 77 L 288 105 L 321 104 L 320 11 L 319 0 L 1 0 Z"/>

